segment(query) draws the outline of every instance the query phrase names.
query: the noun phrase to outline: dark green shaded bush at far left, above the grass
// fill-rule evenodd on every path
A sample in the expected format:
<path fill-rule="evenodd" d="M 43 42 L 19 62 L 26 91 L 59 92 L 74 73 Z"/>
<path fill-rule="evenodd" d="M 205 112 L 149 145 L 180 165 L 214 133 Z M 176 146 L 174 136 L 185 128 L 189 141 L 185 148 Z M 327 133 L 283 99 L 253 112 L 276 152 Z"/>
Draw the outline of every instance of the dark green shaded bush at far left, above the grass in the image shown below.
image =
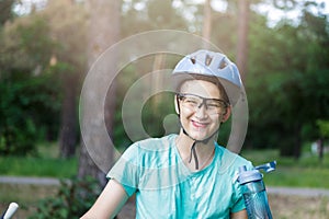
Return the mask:
<path fill-rule="evenodd" d="M 49 83 L 50 76 L 15 79 L 15 73 L 0 81 L 0 154 L 26 154 L 44 131 L 54 135 L 50 128 L 57 123 L 54 116 L 58 116 L 59 105 L 56 87 Z M 53 115 L 39 116 L 49 113 Z"/>

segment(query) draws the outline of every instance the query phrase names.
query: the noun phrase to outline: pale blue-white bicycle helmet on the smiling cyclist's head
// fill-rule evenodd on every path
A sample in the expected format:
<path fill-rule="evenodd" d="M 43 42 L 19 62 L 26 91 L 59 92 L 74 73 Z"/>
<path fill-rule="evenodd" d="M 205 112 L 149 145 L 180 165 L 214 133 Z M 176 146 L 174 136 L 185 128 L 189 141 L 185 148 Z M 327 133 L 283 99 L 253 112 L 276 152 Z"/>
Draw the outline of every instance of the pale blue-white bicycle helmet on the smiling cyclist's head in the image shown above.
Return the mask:
<path fill-rule="evenodd" d="M 240 97 L 241 78 L 237 66 L 224 54 L 209 50 L 197 50 L 185 56 L 173 69 L 174 89 L 193 74 L 215 76 L 224 87 L 230 104 L 235 105 Z"/>

